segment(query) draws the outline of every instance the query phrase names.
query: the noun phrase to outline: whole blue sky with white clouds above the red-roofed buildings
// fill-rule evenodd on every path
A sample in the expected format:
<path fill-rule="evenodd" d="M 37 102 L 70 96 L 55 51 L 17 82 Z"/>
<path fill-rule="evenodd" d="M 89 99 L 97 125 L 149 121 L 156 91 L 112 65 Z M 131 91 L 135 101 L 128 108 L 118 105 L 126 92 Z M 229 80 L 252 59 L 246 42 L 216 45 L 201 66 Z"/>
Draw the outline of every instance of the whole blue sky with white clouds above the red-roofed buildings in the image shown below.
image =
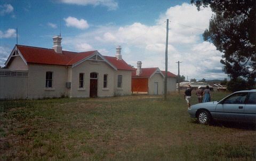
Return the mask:
<path fill-rule="evenodd" d="M 204 42 L 212 17 L 210 7 L 197 11 L 183 0 L 0 0 L 0 66 L 17 43 L 51 49 L 61 33 L 62 50 L 98 50 L 122 57 L 137 67 L 165 70 L 166 19 L 169 19 L 168 70 L 186 80 L 224 79 L 223 53 Z"/>

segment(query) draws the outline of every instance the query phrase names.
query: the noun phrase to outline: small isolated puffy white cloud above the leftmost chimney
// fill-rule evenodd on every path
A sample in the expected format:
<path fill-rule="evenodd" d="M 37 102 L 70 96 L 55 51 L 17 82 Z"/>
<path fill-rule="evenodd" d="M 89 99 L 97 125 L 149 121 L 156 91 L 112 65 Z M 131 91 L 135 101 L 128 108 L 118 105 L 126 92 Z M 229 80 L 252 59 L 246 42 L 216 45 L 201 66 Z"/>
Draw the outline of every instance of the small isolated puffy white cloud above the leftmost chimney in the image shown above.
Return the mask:
<path fill-rule="evenodd" d="M 78 20 L 77 18 L 74 17 L 68 17 L 64 19 L 66 22 L 67 27 L 76 27 L 78 29 L 86 29 L 89 28 L 89 25 L 86 20 L 80 19 Z"/>

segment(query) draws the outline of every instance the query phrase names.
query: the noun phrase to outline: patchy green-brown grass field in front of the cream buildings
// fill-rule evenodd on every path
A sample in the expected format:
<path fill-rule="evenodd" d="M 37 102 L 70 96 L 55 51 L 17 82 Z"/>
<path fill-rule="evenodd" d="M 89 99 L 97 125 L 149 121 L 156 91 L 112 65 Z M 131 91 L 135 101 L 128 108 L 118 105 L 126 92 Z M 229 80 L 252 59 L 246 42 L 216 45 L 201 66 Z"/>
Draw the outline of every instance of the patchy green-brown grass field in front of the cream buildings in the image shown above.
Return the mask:
<path fill-rule="evenodd" d="M 213 100 L 227 94 L 215 92 Z M 199 125 L 182 92 L 167 101 L 154 95 L 0 101 L 0 160 L 255 158 L 255 125 Z"/>

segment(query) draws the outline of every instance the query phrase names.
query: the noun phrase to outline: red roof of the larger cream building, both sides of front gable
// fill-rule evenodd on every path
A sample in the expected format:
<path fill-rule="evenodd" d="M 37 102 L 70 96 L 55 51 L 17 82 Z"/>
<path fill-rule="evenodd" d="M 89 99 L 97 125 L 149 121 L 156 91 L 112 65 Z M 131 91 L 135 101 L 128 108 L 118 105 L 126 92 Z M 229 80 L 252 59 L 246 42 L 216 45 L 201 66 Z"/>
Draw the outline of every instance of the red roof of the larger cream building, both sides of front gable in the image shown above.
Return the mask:
<path fill-rule="evenodd" d="M 58 65 L 58 66 L 72 66 L 78 61 L 81 61 L 95 51 L 88 52 L 69 52 L 62 51 L 61 54 L 56 53 L 53 49 L 46 49 L 42 47 L 17 45 L 27 63 L 35 63 L 42 65 Z M 104 56 L 112 65 L 119 70 L 132 70 L 124 60 L 117 60 L 116 57 Z"/>

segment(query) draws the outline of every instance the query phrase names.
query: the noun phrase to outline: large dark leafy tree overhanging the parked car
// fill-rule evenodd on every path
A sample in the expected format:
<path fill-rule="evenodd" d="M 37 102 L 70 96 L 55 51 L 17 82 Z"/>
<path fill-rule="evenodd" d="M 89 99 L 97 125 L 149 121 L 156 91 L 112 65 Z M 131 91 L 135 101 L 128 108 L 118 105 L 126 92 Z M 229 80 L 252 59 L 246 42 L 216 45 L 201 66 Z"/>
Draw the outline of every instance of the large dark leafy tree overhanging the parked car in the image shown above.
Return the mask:
<path fill-rule="evenodd" d="M 223 71 L 231 81 L 247 79 L 252 88 L 256 77 L 256 18 L 255 0 L 191 0 L 197 9 L 211 7 L 215 13 L 203 37 L 223 52 Z"/>

